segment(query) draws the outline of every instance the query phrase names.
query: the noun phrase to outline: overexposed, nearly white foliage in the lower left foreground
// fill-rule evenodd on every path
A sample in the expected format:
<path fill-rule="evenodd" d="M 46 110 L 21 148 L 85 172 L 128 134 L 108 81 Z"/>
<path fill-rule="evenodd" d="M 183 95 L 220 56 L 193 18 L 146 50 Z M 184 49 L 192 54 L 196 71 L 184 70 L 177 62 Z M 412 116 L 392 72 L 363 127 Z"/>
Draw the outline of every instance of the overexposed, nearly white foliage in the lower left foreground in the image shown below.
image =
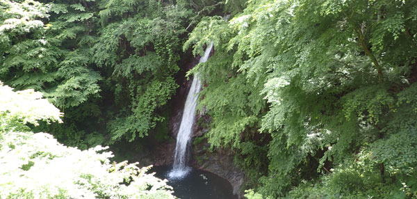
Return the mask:
<path fill-rule="evenodd" d="M 62 113 L 42 93 L 0 84 L 1 198 L 174 198 L 170 186 L 137 164 L 111 162 L 97 146 L 68 148 L 50 134 L 28 132 Z"/>

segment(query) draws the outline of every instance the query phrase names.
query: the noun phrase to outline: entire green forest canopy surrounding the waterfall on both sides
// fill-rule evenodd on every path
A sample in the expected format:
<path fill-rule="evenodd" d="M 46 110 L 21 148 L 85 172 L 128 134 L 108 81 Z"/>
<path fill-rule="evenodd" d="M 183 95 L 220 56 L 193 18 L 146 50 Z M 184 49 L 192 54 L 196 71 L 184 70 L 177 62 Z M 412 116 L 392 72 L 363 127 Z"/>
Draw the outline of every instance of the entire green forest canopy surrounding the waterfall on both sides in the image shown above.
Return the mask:
<path fill-rule="evenodd" d="M 0 81 L 64 113 L 9 120 L 1 95 L 0 150 L 22 128 L 80 149 L 169 139 L 177 78 L 211 42 L 188 75 L 247 198 L 417 198 L 415 0 L 0 0 Z"/>

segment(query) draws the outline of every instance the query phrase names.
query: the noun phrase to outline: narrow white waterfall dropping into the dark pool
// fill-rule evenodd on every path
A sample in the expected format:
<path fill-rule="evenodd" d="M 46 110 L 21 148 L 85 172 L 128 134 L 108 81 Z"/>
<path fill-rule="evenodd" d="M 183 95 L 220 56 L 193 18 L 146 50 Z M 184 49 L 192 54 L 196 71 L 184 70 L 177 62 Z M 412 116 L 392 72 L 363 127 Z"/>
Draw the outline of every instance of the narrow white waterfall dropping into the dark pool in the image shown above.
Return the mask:
<path fill-rule="evenodd" d="M 207 61 L 210 55 L 213 43 L 208 45 L 204 56 L 200 58 L 199 63 Z M 191 135 L 193 133 L 193 125 L 195 120 L 195 107 L 197 106 L 198 93 L 202 87 L 199 75 L 195 74 L 193 83 L 191 83 L 190 91 L 188 91 L 186 105 L 184 106 L 183 115 L 181 118 L 181 125 L 179 126 L 179 132 L 177 134 L 177 145 L 175 146 L 174 166 L 168 174 L 170 178 L 181 178 L 185 176 L 189 171 L 190 167 L 188 163 L 188 148 L 191 145 Z"/>

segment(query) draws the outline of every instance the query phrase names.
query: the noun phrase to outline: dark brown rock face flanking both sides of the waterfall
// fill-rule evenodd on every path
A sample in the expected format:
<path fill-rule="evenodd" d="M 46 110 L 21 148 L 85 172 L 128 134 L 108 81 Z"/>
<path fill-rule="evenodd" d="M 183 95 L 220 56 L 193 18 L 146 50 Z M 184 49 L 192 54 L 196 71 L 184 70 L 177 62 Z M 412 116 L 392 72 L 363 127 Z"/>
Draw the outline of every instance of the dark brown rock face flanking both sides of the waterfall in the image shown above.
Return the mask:
<path fill-rule="evenodd" d="M 177 83 L 180 86 L 177 89 L 177 94 L 172 97 L 169 105 L 171 108 L 169 129 L 172 140 L 160 143 L 153 150 L 149 150 L 146 154 L 143 154 L 140 157 L 141 165 L 146 166 L 152 164 L 154 166 L 164 166 L 172 164 L 174 159 L 175 138 L 177 137 L 183 106 L 191 83 L 191 81 L 184 76 L 186 71 L 190 70 L 190 68 L 198 63 L 198 60 L 199 58 L 196 58 L 183 66 L 177 77 Z M 238 196 L 238 198 L 243 198 L 241 187 L 245 181 L 245 174 L 238 167 L 234 166 L 233 152 L 227 149 L 208 150 L 210 144 L 207 143 L 207 140 L 204 138 L 204 133 L 207 132 L 208 129 L 204 127 L 204 124 L 210 122 L 209 119 L 208 116 L 197 116 L 196 118 L 196 121 L 199 122 L 196 122 L 193 127 L 193 158 L 190 164 L 195 168 L 206 170 L 228 180 L 233 187 L 234 194 Z"/>

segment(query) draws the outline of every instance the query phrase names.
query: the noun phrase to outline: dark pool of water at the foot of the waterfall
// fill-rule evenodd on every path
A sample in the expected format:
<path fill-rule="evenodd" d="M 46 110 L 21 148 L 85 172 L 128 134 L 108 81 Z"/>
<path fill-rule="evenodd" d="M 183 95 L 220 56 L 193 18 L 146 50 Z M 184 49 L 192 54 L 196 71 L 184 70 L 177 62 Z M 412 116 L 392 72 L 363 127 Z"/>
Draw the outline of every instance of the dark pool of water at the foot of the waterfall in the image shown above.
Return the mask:
<path fill-rule="evenodd" d="M 181 179 L 168 179 L 170 166 L 156 166 L 151 172 L 156 177 L 169 180 L 168 184 L 174 188 L 174 196 L 181 199 L 235 199 L 232 187 L 227 180 L 213 173 L 194 169 Z"/>

